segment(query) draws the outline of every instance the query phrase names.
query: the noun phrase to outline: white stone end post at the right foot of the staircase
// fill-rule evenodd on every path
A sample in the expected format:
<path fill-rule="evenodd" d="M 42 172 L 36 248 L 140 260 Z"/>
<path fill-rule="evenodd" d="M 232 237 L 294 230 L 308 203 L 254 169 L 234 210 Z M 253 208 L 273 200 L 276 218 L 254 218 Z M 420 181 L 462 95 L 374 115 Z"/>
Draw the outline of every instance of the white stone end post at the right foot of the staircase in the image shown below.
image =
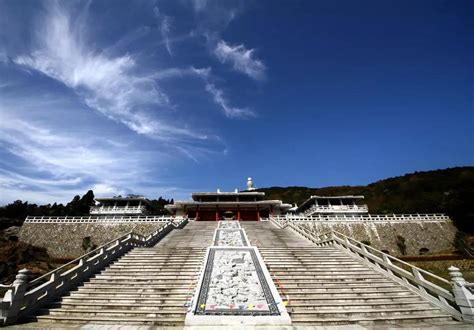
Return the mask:
<path fill-rule="evenodd" d="M 474 288 L 473 283 L 468 283 L 459 271 L 459 268 L 451 266 L 448 268 L 453 283 L 453 294 L 456 304 L 461 310 L 463 320 L 474 323 Z"/>

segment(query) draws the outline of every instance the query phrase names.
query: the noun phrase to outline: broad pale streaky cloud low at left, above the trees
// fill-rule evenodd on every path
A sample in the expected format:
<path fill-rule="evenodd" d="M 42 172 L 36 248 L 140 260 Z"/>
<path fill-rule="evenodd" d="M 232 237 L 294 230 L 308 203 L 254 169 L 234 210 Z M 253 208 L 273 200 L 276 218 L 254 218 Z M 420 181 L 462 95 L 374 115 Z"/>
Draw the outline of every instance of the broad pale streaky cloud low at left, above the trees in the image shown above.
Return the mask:
<path fill-rule="evenodd" d="M 14 157 L 11 161 L 16 159 L 14 169 L 5 169 L 5 163 L 0 169 L 0 203 L 19 197 L 65 201 L 88 189 L 99 196 L 141 192 L 150 168 L 169 161 L 165 154 L 110 143 L 107 138 L 53 131 L 44 124 L 7 115 L 3 108 L 0 145 Z M 155 193 L 159 190 L 158 185 L 154 187 Z"/>

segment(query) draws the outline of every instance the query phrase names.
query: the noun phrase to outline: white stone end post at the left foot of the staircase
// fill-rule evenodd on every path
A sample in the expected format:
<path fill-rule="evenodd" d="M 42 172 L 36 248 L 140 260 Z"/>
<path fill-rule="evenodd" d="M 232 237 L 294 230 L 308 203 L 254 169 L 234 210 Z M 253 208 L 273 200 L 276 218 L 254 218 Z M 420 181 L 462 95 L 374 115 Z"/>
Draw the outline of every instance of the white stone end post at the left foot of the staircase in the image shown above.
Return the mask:
<path fill-rule="evenodd" d="M 31 272 L 28 269 L 20 270 L 15 277 L 12 288 L 5 293 L 1 305 L 1 318 L 4 325 L 13 324 L 18 319 L 30 275 Z"/>

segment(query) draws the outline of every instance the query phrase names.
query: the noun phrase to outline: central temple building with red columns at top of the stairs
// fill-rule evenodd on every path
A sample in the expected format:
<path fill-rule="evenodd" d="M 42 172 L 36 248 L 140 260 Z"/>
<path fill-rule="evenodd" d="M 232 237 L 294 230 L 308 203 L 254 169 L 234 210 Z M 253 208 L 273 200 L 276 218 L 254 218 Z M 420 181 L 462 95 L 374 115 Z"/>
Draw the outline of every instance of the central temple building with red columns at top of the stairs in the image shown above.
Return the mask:
<path fill-rule="evenodd" d="M 252 187 L 250 187 L 252 188 Z M 192 201 L 175 201 L 166 209 L 176 216 L 187 216 L 198 221 L 222 219 L 260 220 L 270 215 L 284 214 L 291 208 L 280 200 L 265 199 L 264 192 L 195 192 Z"/>

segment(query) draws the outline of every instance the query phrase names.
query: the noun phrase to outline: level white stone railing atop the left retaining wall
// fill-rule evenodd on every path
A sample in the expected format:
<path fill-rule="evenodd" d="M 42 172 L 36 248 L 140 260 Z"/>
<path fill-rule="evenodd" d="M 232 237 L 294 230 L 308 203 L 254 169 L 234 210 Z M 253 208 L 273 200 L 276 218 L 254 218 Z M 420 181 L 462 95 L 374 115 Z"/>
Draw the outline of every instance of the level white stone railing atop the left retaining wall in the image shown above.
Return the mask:
<path fill-rule="evenodd" d="M 86 217 L 31 217 L 25 223 L 130 223 L 130 222 L 169 222 L 181 221 L 184 217 L 163 216 L 86 216 Z"/>

